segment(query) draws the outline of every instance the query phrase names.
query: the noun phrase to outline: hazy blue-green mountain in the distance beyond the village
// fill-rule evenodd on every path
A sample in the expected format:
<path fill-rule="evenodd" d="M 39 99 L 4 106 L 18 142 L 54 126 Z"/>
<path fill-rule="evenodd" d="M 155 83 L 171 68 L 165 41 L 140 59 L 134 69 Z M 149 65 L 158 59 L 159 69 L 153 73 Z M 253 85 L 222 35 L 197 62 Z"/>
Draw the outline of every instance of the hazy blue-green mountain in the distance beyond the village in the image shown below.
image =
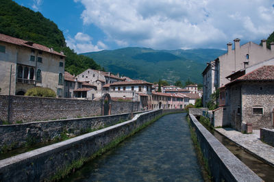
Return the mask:
<path fill-rule="evenodd" d="M 188 80 L 201 83 L 201 73 L 206 62 L 214 60 L 226 51 L 219 49 L 190 50 L 153 50 L 139 47 L 127 47 L 113 51 L 84 53 L 101 64 L 107 70 L 133 79 L 158 81 L 165 79 L 170 83 Z"/>

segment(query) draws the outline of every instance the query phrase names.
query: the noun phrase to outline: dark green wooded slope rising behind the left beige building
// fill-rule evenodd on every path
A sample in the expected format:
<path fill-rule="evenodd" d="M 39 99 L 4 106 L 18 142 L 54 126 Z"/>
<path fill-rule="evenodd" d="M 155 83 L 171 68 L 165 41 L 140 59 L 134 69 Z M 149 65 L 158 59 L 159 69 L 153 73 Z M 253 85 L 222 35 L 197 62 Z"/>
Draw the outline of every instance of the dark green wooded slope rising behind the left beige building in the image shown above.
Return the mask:
<path fill-rule="evenodd" d="M 0 34 L 53 47 L 55 51 L 63 51 L 67 56 L 65 70 L 71 74 L 77 75 L 87 68 L 102 69 L 90 57 L 77 55 L 66 47 L 64 35 L 53 21 L 42 16 L 40 12 L 34 12 L 12 0 L 0 1 Z"/>

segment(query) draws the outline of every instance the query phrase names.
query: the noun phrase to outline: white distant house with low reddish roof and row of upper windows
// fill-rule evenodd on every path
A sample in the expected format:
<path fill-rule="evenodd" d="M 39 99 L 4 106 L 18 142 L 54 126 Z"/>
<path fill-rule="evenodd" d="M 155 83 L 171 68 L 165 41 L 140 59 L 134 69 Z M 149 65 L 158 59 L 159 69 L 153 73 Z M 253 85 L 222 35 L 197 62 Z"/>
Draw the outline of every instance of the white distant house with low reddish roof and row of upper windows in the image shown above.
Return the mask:
<path fill-rule="evenodd" d="M 112 98 L 139 101 L 140 109 L 151 109 L 151 87 L 153 83 L 142 80 L 119 81 L 103 86 L 103 93 L 108 93 Z"/>

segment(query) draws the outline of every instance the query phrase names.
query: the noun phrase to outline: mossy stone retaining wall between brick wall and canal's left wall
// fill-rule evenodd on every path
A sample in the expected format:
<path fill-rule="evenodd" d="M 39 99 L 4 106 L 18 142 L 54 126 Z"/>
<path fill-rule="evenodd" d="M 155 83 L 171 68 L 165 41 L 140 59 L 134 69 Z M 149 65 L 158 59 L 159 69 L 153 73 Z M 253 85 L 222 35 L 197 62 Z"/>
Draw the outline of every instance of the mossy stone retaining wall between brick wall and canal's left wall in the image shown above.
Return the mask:
<path fill-rule="evenodd" d="M 27 122 L 15 125 L 0 125 L 0 152 L 2 148 L 19 148 L 26 144 L 49 142 L 64 135 L 79 135 L 92 129 L 107 127 L 129 120 L 131 114 L 73 118 Z"/>

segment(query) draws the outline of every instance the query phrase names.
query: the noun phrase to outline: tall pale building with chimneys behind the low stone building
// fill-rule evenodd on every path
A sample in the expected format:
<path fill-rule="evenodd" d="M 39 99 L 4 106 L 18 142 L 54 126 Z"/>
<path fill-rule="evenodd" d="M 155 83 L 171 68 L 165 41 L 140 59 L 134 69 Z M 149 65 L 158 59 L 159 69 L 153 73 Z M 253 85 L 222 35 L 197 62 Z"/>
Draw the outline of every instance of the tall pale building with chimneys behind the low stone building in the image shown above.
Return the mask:
<path fill-rule="evenodd" d="M 236 71 L 247 68 L 264 60 L 274 57 L 274 43 L 271 43 L 271 49 L 266 48 L 266 40 L 262 40 L 262 46 L 247 42 L 240 46 L 240 39 L 234 40 L 234 49 L 232 43 L 227 44 L 227 53 L 219 56 L 216 60 L 208 63 L 203 70 L 203 105 L 206 105 L 216 88 L 225 86 L 229 83 L 226 79 L 228 75 Z"/>

